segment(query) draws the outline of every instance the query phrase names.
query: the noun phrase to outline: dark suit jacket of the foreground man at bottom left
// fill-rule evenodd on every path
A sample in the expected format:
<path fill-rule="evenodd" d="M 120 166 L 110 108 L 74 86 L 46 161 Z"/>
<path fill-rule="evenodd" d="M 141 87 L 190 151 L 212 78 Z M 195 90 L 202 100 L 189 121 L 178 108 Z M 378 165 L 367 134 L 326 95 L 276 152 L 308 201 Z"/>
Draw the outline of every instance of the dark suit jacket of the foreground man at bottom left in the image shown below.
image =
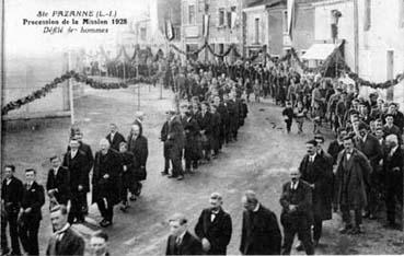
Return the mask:
<path fill-rule="evenodd" d="M 58 243 L 58 246 L 56 246 L 57 236 L 53 235 L 49 238 L 48 247 L 46 248 L 46 255 L 84 255 L 84 240 L 71 228 L 65 231 L 64 236 Z"/>

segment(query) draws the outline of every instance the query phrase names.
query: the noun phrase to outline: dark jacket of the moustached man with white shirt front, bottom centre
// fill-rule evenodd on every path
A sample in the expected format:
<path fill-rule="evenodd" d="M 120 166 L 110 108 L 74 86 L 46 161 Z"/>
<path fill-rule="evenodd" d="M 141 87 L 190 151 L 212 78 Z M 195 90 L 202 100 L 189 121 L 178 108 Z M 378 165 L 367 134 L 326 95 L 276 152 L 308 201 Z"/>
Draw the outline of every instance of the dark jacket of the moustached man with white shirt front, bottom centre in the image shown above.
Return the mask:
<path fill-rule="evenodd" d="M 211 209 L 204 209 L 195 226 L 195 234 L 200 240 L 207 238 L 209 241 L 209 254 L 226 255 L 232 233 L 231 217 L 222 209 L 216 214 L 213 222 L 210 221 L 210 217 Z"/>

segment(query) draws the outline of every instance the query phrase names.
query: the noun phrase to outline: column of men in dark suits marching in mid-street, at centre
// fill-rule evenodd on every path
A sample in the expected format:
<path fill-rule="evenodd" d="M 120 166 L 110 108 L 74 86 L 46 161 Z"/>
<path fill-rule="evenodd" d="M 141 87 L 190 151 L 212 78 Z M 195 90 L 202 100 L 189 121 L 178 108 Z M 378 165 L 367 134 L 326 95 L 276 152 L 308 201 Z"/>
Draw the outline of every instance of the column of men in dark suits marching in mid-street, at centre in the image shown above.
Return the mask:
<path fill-rule="evenodd" d="M 216 159 L 223 146 L 238 140 L 238 131 L 247 116 L 247 105 L 241 100 L 242 89 L 233 81 L 226 77 L 204 79 L 210 86 L 198 93 L 182 91 L 187 84 L 183 72 L 175 81 L 181 97 L 189 101 L 181 100 L 178 112 L 166 112 L 166 121 L 161 129 L 160 138 L 164 142 L 162 175 L 169 178 L 181 181 L 185 173 L 195 172 L 200 163 Z M 193 81 L 201 82 L 197 77 Z"/>

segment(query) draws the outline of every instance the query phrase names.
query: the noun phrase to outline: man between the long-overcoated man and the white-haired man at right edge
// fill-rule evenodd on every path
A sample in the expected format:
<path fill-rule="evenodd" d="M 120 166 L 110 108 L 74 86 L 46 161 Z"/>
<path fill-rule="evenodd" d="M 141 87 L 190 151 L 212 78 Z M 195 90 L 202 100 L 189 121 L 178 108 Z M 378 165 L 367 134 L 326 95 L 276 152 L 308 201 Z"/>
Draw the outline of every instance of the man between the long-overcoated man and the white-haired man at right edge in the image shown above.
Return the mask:
<path fill-rule="evenodd" d="M 383 158 L 383 152 L 378 139 L 369 132 L 366 124 L 360 123 L 358 131 L 359 133 L 356 137 L 355 146 L 368 158 L 372 166 L 370 186 L 367 187 L 368 206 L 362 217 L 374 220 L 378 206 L 378 188 L 380 187 L 379 184 L 382 182 L 379 181 L 377 171 L 379 162 Z"/>

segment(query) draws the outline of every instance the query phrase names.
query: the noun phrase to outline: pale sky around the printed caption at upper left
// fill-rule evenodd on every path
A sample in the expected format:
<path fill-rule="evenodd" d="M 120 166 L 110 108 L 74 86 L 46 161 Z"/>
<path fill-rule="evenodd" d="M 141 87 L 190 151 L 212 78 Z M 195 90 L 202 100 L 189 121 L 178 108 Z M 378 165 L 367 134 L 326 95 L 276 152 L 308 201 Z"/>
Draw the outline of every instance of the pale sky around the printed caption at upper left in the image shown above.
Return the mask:
<path fill-rule="evenodd" d="M 38 11 L 47 11 L 51 15 L 53 11 L 116 11 L 117 18 L 127 19 L 128 23 L 147 11 L 153 0 L 5 0 L 5 22 L 4 22 L 4 47 L 7 55 L 41 54 L 49 51 L 65 50 L 74 47 L 96 47 L 105 42 L 114 42 L 116 33 L 125 25 L 109 25 L 108 33 L 73 33 L 68 34 L 65 26 L 62 34 L 44 34 L 45 25 L 23 25 L 23 19 L 48 20 L 49 18 L 37 18 Z M 62 18 L 51 18 L 62 21 Z M 66 18 L 71 20 L 72 18 Z M 78 18 L 80 21 L 82 18 Z M 77 20 L 78 20 L 77 19 Z M 93 18 L 96 19 L 96 18 Z M 49 25 L 51 26 L 51 25 Z M 80 28 L 81 25 L 74 26 Z M 101 27 L 101 26 L 88 26 Z"/>

